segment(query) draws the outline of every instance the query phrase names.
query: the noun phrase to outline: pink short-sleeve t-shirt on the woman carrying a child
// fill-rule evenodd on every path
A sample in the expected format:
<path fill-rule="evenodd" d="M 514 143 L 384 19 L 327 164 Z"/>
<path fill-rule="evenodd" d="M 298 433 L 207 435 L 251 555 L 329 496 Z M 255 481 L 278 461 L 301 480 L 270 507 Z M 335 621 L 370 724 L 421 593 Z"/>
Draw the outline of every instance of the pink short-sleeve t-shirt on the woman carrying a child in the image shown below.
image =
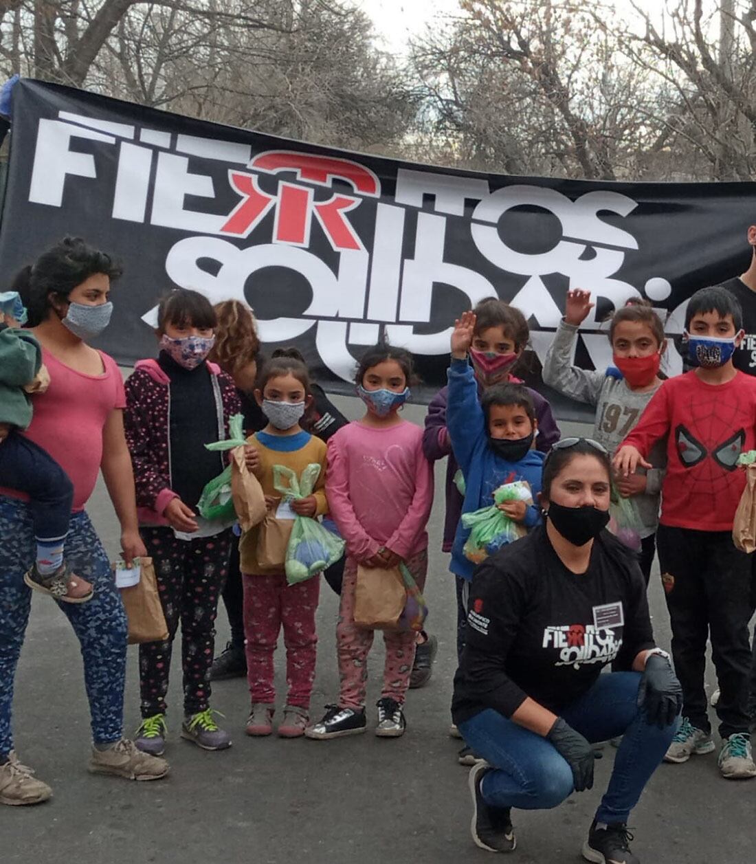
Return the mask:
<path fill-rule="evenodd" d="M 102 375 L 86 375 L 42 348 L 48 367 L 48 390 L 32 399 L 34 419 L 26 432 L 31 441 L 48 451 L 73 483 L 73 510 L 83 510 L 97 482 L 102 461 L 102 435 L 114 408 L 126 407 L 124 380 L 115 360 L 99 352 Z M 10 490 L 16 498 L 22 496 Z"/>

